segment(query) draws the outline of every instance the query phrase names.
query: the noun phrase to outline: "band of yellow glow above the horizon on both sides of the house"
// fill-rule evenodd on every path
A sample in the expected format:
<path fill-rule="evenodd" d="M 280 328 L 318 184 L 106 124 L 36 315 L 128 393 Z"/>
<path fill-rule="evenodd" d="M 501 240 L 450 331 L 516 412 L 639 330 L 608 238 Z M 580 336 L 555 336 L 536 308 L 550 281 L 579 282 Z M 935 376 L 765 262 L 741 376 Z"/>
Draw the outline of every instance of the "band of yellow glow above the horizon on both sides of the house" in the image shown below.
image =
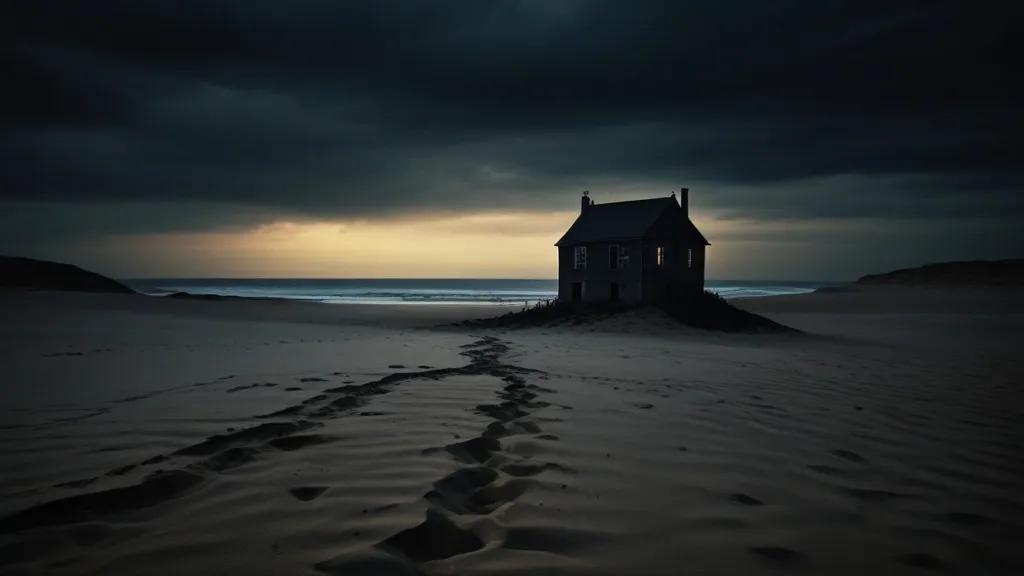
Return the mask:
<path fill-rule="evenodd" d="M 554 243 L 577 215 L 494 212 L 276 221 L 245 231 L 109 237 L 83 247 L 82 261 L 96 262 L 100 270 L 103 261 L 117 261 L 130 270 L 122 278 L 551 279 L 558 275 Z M 692 217 L 712 241 L 709 278 L 757 276 L 799 250 L 801 235 L 835 227 Z"/>

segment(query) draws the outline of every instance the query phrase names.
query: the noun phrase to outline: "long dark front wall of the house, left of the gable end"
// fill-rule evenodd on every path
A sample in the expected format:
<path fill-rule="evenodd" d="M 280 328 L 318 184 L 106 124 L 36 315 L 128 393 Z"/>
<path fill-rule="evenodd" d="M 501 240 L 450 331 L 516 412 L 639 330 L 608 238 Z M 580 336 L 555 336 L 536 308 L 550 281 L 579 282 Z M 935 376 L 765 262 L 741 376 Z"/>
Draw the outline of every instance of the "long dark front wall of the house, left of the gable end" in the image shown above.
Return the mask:
<path fill-rule="evenodd" d="M 608 265 L 608 249 L 610 246 L 624 246 L 629 255 L 625 268 L 610 270 Z M 611 297 L 611 284 L 618 285 L 618 299 L 623 302 L 637 303 L 641 299 L 641 257 L 640 241 L 594 242 L 587 244 L 587 270 L 572 270 L 574 261 L 574 246 L 558 247 L 558 298 L 569 301 L 572 298 L 572 283 L 583 282 L 584 301 L 607 300 Z"/>

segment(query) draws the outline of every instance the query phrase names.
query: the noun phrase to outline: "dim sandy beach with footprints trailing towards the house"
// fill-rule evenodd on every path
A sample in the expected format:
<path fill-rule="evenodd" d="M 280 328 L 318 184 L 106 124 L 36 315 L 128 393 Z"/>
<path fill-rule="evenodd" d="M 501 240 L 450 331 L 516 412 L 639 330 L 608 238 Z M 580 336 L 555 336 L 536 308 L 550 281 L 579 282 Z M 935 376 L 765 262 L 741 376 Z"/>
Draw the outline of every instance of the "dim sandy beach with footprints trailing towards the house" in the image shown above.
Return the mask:
<path fill-rule="evenodd" d="M 1019 296 L 739 305 L 804 333 L 4 294 L 0 573 L 1024 566 Z"/>

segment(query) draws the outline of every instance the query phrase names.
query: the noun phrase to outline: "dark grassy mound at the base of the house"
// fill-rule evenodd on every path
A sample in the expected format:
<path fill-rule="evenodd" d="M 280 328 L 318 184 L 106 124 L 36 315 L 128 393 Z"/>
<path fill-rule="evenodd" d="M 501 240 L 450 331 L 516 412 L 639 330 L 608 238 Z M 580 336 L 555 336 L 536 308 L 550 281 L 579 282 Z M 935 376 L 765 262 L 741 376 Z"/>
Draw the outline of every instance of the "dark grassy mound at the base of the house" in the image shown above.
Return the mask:
<path fill-rule="evenodd" d="M 473 328 L 540 328 L 578 326 L 642 306 L 614 302 L 563 302 L 549 300 L 494 318 L 481 318 L 453 324 Z M 763 316 L 739 310 L 713 292 L 703 291 L 690 297 L 659 303 L 656 307 L 682 325 L 719 332 L 790 332 L 798 330 L 783 326 Z"/>

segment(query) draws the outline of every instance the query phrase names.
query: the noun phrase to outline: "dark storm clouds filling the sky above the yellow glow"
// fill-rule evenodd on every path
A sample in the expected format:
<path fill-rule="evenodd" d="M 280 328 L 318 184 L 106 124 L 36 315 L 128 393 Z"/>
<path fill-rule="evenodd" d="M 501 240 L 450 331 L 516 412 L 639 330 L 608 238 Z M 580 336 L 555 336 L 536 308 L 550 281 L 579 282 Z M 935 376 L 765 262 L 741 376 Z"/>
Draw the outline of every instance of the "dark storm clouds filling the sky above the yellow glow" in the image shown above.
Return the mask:
<path fill-rule="evenodd" d="M 8 201 L 209 204 L 133 212 L 162 230 L 692 182 L 736 216 L 1024 215 L 1012 3 L 12 5 Z"/>

